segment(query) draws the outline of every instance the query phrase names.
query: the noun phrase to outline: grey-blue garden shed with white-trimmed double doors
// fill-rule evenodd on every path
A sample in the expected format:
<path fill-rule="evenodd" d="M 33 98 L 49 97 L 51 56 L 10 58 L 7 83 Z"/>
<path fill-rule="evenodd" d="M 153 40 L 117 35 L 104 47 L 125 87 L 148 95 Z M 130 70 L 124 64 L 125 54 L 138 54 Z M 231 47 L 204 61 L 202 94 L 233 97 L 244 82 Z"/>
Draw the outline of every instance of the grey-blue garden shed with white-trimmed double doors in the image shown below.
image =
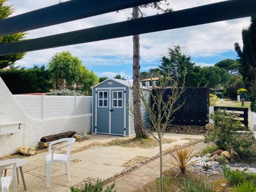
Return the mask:
<path fill-rule="evenodd" d="M 132 82 L 114 78 L 108 78 L 92 87 L 92 133 L 124 137 L 135 135 L 134 118 L 129 112 L 133 107 L 132 87 Z M 144 124 L 149 122 L 143 107 L 141 114 Z"/>

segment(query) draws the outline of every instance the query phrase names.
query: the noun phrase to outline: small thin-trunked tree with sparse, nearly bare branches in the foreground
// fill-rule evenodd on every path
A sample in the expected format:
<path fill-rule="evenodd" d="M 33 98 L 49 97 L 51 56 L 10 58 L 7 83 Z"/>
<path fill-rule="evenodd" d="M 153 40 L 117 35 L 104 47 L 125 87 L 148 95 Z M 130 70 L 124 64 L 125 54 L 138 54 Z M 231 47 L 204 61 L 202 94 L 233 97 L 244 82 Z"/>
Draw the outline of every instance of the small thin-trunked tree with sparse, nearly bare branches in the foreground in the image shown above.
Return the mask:
<path fill-rule="evenodd" d="M 185 72 L 186 73 L 186 72 Z M 150 75 L 151 76 L 151 75 Z M 141 101 L 142 107 L 147 111 L 150 122 L 147 123 L 147 133 L 155 138 L 159 143 L 159 154 L 160 154 L 160 191 L 163 191 L 163 176 L 162 176 L 162 138 L 165 133 L 166 127 L 172 123 L 172 115 L 181 108 L 184 102 L 177 102 L 184 92 L 185 88 L 185 74 L 182 75 L 184 79 L 180 80 L 181 75 L 178 72 L 177 76 L 167 75 L 165 77 L 160 77 L 159 80 L 153 81 L 151 79 L 152 85 L 141 87 L 138 94 Z M 182 83 L 181 83 L 182 81 Z M 181 84 L 181 86 L 179 86 Z M 152 98 L 152 103 L 150 100 Z M 130 109 L 133 115 L 134 109 Z M 141 117 L 140 117 L 141 118 Z M 143 122 L 140 119 L 140 122 Z"/>

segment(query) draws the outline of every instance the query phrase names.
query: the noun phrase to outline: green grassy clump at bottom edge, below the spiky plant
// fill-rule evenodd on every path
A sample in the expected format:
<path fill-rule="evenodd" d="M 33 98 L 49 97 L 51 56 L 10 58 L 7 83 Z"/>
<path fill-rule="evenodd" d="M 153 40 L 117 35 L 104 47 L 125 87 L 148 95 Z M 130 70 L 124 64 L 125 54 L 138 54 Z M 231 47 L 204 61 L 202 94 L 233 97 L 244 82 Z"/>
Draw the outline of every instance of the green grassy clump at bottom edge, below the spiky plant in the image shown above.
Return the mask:
<path fill-rule="evenodd" d="M 214 187 L 209 183 L 205 184 L 201 178 L 199 180 L 194 180 L 186 178 L 183 180 L 183 183 L 180 185 L 180 188 L 184 192 L 213 192 Z"/>

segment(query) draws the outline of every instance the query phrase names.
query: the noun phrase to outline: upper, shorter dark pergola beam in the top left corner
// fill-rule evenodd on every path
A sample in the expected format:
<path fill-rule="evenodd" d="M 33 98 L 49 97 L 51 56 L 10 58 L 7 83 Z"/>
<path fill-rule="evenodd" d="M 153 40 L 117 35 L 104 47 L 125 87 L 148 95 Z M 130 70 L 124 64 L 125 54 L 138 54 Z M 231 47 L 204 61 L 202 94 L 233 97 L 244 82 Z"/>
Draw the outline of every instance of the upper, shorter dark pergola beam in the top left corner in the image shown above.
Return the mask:
<path fill-rule="evenodd" d="M 72 0 L 0 20 L 0 36 L 118 11 L 155 0 Z"/>

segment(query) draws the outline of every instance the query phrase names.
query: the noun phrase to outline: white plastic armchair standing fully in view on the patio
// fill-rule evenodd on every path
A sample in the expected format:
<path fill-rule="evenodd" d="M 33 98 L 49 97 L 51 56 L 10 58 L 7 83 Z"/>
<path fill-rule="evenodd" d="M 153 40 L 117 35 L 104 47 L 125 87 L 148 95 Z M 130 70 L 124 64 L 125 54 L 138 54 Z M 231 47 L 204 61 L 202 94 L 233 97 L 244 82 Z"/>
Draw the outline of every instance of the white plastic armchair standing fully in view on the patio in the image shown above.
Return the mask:
<path fill-rule="evenodd" d="M 65 145 L 62 145 L 60 147 L 56 147 L 52 149 L 53 144 L 57 144 L 60 142 L 68 142 Z M 69 181 L 71 180 L 71 173 L 70 173 L 70 161 L 69 161 L 69 156 L 70 156 L 70 150 L 71 150 L 71 144 L 75 142 L 74 138 L 64 138 L 64 139 L 59 139 L 56 141 L 53 141 L 49 144 L 49 154 L 46 155 L 46 162 L 45 162 L 45 175 L 46 175 L 46 186 L 50 187 L 50 172 L 51 172 L 51 163 L 53 162 L 64 162 L 66 165 L 66 174 L 69 176 Z M 66 154 L 55 154 L 55 151 L 60 150 L 61 148 L 67 148 L 67 153 Z"/>

